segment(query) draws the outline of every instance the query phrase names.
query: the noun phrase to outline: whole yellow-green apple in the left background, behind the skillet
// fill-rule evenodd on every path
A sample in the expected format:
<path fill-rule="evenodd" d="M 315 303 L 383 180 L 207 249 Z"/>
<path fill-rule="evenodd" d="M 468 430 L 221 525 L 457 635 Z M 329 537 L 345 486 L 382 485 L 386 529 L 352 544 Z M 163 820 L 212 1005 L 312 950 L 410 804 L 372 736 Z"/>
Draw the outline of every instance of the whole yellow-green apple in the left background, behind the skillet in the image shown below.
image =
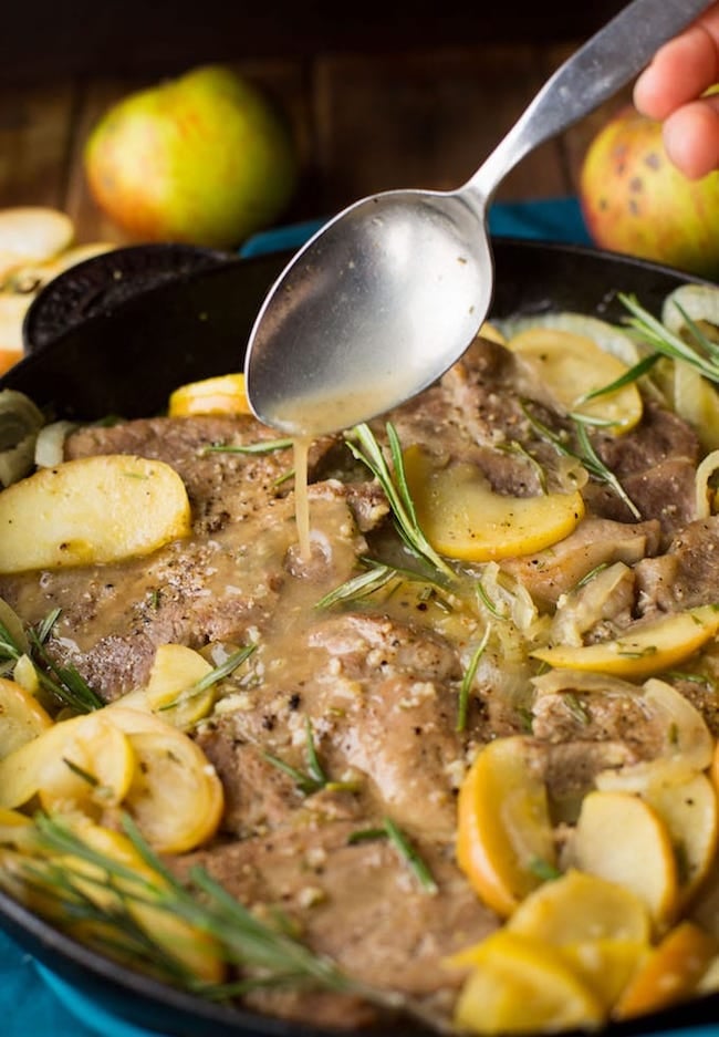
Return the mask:
<path fill-rule="evenodd" d="M 222 65 L 119 101 L 83 159 L 95 201 L 135 241 L 236 247 L 277 220 L 298 182 L 279 113 Z"/>

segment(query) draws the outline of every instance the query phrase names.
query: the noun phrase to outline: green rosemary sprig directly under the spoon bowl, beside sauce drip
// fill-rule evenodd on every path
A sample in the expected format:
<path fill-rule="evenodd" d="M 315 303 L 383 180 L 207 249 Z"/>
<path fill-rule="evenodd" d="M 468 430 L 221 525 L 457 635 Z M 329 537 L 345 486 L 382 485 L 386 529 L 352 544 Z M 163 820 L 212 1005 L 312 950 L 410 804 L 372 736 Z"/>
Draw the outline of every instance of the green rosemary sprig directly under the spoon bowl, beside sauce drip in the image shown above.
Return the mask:
<path fill-rule="evenodd" d="M 390 422 L 387 423 L 386 429 L 392 456 L 392 470 L 368 425 L 355 425 L 346 434 L 347 446 L 353 456 L 369 468 L 385 491 L 397 531 L 409 551 L 424 559 L 444 577 L 455 579 L 454 570 L 435 551 L 421 531 L 409 487 L 407 486 L 399 437 Z"/>

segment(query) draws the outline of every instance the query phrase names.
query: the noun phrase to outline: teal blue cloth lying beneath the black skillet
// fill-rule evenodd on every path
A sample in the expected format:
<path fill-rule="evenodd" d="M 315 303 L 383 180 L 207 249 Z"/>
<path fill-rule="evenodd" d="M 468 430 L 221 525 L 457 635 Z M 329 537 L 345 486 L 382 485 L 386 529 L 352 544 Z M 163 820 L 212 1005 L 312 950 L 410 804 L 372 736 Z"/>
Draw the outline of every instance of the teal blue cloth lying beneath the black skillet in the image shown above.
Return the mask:
<path fill-rule="evenodd" d="M 240 255 L 300 248 L 320 226 L 312 221 L 257 235 Z M 489 228 L 499 237 L 591 245 L 575 198 L 494 205 Z M 105 1008 L 101 998 L 92 998 L 65 983 L 1 931 L 0 977 L 3 1037 L 158 1037 L 156 1030 L 125 1022 Z M 674 1030 L 663 1037 L 719 1037 L 719 1024 Z"/>

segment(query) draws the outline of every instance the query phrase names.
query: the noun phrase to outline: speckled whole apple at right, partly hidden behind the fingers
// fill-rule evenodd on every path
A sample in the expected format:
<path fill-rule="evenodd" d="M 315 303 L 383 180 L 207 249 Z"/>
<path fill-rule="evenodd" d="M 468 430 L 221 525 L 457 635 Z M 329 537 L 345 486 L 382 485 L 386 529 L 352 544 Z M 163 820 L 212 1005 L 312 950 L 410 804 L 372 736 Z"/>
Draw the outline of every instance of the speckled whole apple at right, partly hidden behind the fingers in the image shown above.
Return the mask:
<path fill-rule="evenodd" d="M 669 162 L 661 124 L 632 105 L 590 144 L 580 203 L 600 248 L 719 277 L 719 173 L 687 179 Z"/>

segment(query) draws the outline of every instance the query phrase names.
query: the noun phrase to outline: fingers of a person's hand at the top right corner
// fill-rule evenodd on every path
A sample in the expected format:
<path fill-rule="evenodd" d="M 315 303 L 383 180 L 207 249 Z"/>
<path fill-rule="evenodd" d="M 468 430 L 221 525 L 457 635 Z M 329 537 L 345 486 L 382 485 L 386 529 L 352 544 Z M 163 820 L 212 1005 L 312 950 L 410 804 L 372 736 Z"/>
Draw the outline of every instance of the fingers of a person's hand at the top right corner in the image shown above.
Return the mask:
<path fill-rule="evenodd" d="M 634 86 L 634 104 L 664 123 L 671 162 L 690 179 L 719 169 L 719 2 L 665 43 Z"/>

